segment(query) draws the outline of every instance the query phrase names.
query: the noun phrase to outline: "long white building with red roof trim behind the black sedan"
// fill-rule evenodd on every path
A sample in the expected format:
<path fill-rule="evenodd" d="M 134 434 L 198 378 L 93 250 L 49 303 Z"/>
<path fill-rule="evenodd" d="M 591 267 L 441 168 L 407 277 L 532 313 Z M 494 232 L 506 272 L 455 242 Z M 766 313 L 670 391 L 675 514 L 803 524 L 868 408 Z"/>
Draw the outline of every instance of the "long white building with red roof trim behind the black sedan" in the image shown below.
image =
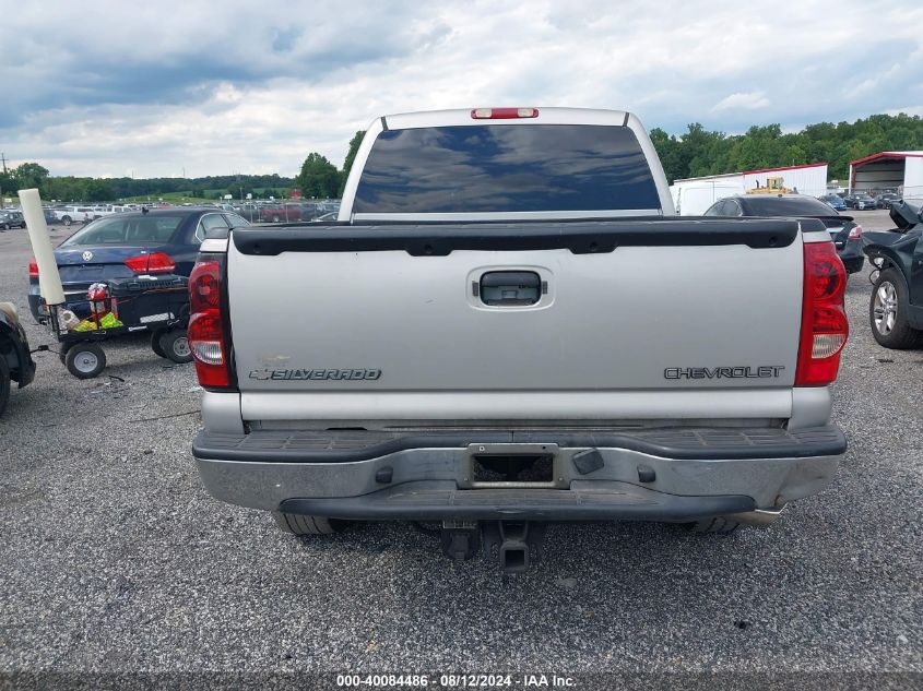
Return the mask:
<path fill-rule="evenodd" d="M 758 187 L 765 188 L 769 178 L 781 178 L 785 189 L 797 191 L 800 194 L 823 196 L 827 193 L 826 163 L 685 178 L 675 180 L 670 191 L 677 214 L 697 216 L 719 199 L 744 194 Z"/>

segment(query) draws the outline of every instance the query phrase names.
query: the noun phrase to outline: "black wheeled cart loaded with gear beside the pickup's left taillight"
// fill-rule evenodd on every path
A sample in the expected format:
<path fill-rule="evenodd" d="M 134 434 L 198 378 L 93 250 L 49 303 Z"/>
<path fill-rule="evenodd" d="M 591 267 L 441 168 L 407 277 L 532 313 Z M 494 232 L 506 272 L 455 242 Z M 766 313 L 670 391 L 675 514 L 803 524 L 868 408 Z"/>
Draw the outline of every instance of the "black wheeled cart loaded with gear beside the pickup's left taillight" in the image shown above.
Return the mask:
<path fill-rule="evenodd" d="M 86 300 L 48 306 L 48 324 L 61 344 L 61 362 L 78 379 L 93 379 L 106 367 L 103 341 L 151 332 L 151 349 L 174 362 L 190 362 L 186 338 L 189 282 L 150 275 L 94 283 Z"/>

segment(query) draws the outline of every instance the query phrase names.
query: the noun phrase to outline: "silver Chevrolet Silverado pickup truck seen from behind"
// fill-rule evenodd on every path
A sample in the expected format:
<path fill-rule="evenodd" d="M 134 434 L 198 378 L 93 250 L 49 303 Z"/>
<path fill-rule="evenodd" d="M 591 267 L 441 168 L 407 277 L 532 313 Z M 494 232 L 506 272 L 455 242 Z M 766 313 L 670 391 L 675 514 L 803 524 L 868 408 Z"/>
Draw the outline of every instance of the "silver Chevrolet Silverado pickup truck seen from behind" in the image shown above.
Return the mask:
<path fill-rule="evenodd" d="M 845 451 L 845 279 L 819 221 L 676 217 L 630 114 L 382 117 L 336 224 L 202 243 L 193 455 L 289 533 L 433 522 L 508 570 L 545 522 L 767 524 Z"/>

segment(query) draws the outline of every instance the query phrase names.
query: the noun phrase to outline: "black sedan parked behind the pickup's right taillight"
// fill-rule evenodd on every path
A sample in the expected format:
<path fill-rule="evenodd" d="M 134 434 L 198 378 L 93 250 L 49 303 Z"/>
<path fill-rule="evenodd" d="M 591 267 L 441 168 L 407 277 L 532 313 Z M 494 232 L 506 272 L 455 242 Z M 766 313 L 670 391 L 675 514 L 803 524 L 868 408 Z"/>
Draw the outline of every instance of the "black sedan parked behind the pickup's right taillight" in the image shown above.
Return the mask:
<path fill-rule="evenodd" d="M 785 216 L 818 218 L 827 226 L 837 254 L 849 273 L 862 270 L 862 226 L 851 216 L 841 216 L 826 202 L 801 194 L 738 194 L 717 201 L 706 216 Z"/>

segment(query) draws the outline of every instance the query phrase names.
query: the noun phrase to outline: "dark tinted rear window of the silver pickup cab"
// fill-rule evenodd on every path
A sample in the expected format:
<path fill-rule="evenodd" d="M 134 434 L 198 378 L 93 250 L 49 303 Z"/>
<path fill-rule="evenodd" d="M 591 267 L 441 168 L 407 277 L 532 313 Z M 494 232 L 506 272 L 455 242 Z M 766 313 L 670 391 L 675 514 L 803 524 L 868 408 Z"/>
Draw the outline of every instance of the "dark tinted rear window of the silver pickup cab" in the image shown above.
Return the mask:
<path fill-rule="evenodd" d="M 371 148 L 355 213 L 660 209 L 625 127 L 464 126 L 388 130 Z"/>

